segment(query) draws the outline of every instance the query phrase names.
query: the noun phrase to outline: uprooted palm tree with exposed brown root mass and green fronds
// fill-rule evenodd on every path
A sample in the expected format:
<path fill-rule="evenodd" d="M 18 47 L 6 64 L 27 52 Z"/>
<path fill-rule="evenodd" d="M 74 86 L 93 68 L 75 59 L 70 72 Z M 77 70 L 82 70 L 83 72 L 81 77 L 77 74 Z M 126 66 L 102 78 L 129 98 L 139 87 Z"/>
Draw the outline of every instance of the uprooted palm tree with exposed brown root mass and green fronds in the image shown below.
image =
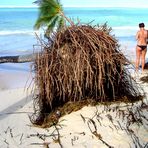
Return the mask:
<path fill-rule="evenodd" d="M 110 28 L 74 25 L 63 14 L 59 1 L 37 2 L 40 14 L 35 27 L 47 26 L 49 40 L 52 40 L 52 29 L 58 28 L 55 40 L 43 47 L 34 63 L 35 108 L 39 107 L 39 118 L 34 121 L 37 124 L 42 124 L 49 113 L 69 101 L 141 98 L 139 88 L 125 68 L 130 63 L 119 50 Z M 70 22 L 70 26 L 64 26 L 65 21 Z"/>

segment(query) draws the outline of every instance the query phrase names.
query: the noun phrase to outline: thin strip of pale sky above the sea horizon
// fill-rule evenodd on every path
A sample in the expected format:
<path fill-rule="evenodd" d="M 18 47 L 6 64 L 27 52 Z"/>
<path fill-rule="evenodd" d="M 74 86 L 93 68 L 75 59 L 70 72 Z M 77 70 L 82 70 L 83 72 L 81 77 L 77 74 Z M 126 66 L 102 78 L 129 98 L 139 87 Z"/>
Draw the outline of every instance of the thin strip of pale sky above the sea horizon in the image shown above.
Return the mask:
<path fill-rule="evenodd" d="M 0 0 L 0 7 L 35 7 L 35 0 Z M 64 7 L 147 7 L 148 0 L 61 0 Z"/>

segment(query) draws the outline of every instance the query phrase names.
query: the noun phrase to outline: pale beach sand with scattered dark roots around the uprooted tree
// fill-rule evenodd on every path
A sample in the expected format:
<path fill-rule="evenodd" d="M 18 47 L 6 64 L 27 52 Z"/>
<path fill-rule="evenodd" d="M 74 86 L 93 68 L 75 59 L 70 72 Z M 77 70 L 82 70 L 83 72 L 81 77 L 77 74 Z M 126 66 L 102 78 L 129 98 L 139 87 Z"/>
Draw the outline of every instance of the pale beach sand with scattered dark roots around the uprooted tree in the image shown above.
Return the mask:
<path fill-rule="evenodd" d="M 124 119 L 119 116 L 119 112 L 113 110 L 117 104 L 110 106 L 111 110 L 98 105 L 84 107 L 60 118 L 56 126 L 58 130 L 55 127 L 33 127 L 28 117 L 33 113 L 31 90 L 24 91 L 24 79 L 30 74 L 27 71 L 13 71 L 12 74 L 7 70 L 0 71 L 0 85 L 3 88 L 0 90 L 0 148 L 40 148 L 47 145 L 50 148 L 134 148 L 135 145 L 138 148 L 148 147 L 148 120 L 141 118 L 142 124 L 139 126 L 136 123 L 131 124 L 129 129 L 132 132 L 129 132 L 127 107 L 123 103 L 120 105 L 120 113 L 124 111 Z M 12 80 L 17 83 L 12 83 Z M 20 85 L 19 82 L 23 83 Z M 141 85 L 146 92 L 144 101 L 147 102 L 148 84 Z M 139 104 L 140 102 L 129 105 L 136 117 L 136 107 L 139 107 Z M 148 106 L 142 109 L 141 114 L 148 119 L 147 111 Z M 102 139 L 99 139 L 99 136 Z M 57 142 L 58 137 L 61 146 Z"/>

